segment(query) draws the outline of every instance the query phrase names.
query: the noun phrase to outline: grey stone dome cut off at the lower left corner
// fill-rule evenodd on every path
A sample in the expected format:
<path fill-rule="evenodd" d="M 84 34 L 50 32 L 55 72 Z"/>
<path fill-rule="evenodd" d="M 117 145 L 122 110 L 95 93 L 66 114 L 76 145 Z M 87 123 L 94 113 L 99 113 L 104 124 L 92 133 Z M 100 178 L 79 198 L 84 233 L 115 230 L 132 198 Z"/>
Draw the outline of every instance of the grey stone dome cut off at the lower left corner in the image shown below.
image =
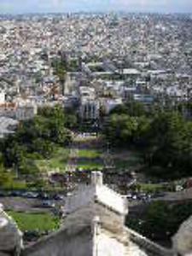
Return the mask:
<path fill-rule="evenodd" d="M 20 250 L 21 232 L 0 204 L 0 252 Z"/>

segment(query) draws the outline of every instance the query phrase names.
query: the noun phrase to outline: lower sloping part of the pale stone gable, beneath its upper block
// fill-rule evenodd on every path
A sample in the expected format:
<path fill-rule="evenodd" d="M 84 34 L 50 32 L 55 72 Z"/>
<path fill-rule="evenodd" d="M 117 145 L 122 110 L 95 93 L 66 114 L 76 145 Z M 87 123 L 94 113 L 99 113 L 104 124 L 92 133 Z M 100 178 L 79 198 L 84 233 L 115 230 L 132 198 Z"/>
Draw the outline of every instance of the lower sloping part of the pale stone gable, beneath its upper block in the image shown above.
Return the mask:
<path fill-rule="evenodd" d="M 91 256 L 95 255 L 96 251 L 99 253 L 97 255 L 102 256 L 103 251 L 108 251 L 106 255 L 115 255 L 117 250 L 117 256 L 174 255 L 172 250 L 160 247 L 134 230 L 125 228 L 123 220 L 123 217 L 119 218 L 119 215 L 108 207 L 90 203 L 87 207 L 69 214 L 64 219 L 64 227 L 61 230 L 27 247 L 21 256 Z M 102 227 L 98 233 L 96 224 Z M 125 249 L 131 250 L 131 253 L 125 253 Z"/>

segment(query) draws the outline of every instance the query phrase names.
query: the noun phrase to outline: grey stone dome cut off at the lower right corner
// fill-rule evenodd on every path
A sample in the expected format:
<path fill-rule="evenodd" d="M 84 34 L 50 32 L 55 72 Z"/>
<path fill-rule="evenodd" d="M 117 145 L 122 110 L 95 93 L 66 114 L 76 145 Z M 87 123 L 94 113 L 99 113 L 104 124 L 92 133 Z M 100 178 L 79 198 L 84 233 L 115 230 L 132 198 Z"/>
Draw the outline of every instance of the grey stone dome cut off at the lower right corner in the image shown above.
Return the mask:
<path fill-rule="evenodd" d="M 181 224 L 173 236 L 173 247 L 181 255 L 192 255 L 192 216 Z"/>

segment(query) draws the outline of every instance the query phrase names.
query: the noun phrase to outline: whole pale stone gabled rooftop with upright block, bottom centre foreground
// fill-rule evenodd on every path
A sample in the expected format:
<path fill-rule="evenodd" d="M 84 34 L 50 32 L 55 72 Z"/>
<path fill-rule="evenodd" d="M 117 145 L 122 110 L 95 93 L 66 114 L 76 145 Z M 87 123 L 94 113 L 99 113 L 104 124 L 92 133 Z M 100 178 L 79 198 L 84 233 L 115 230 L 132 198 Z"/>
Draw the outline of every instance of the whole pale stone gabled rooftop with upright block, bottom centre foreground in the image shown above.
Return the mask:
<path fill-rule="evenodd" d="M 102 174 L 67 199 L 61 230 L 22 251 L 21 256 L 173 256 L 171 250 L 125 228 L 127 204 L 102 185 Z"/>

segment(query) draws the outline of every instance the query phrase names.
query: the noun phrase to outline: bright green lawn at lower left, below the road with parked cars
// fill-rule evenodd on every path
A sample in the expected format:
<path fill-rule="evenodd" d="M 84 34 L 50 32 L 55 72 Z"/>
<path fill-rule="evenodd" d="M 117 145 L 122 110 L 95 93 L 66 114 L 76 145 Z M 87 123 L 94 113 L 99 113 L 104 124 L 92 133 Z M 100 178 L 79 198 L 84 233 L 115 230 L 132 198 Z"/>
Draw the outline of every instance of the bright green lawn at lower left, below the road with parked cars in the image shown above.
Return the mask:
<path fill-rule="evenodd" d="M 15 219 L 21 231 L 49 231 L 59 228 L 60 220 L 51 213 L 8 212 Z"/>

